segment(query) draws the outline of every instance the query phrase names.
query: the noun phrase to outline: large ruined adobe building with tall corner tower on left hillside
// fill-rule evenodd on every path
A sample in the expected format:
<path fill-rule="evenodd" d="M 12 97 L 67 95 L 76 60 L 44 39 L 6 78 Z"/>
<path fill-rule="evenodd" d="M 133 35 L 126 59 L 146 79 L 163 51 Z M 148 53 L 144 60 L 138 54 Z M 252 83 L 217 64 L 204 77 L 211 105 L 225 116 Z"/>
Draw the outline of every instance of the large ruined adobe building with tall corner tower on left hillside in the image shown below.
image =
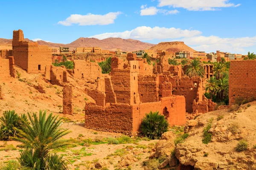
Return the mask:
<path fill-rule="evenodd" d="M 44 73 L 45 67 L 52 64 L 51 48 L 24 41 L 22 30 L 13 31 L 12 56 L 15 64 L 28 73 Z"/>

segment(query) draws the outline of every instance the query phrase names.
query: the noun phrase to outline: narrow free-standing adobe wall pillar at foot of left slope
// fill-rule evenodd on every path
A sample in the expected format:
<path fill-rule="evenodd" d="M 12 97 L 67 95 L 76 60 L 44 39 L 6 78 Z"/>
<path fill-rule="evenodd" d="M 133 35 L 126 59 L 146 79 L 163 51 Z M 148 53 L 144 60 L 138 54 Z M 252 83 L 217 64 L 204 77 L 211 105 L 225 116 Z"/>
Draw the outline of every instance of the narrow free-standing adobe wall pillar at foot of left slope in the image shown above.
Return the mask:
<path fill-rule="evenodd" d="M 73 90 L 67 83 L 63 87 L 63 114 L 73 115 Z"/>

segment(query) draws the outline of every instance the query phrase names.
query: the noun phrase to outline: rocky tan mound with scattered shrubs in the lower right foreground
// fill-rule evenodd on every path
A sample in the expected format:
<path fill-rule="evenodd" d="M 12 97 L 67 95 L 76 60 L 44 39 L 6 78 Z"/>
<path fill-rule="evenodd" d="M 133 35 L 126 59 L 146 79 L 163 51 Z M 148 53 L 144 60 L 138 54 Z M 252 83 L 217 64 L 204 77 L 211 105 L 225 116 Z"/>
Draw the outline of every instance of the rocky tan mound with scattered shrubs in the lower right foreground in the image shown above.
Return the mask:
<path fill-rule="evenodd" d="M 189 120 L 185 127 L 188 137 L 181 142 L 180 134 L 164 133 L 150 159 L 166 158 L 159 168 L 176 170 L 255 170 L 256 169 L 256 102 L 212 111 Z M 203 133 L 212 135 L 204 144 Z M 247 149 L 237 151 L 241 140 Z M 175 146 L 176 142 L 176 146 Z M 177 164 L 177 160 L 179 164 Z"/>

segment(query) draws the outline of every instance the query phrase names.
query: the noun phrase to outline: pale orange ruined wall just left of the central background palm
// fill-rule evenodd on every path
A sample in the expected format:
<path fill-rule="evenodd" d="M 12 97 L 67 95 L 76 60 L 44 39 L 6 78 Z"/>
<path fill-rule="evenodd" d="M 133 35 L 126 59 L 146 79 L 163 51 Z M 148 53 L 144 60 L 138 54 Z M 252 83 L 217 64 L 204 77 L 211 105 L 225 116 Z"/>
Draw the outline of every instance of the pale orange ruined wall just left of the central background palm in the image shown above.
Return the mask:
<path fill-rule="evenodd" d="M 89 59 L 74 59 L 74 69 L 73 77 L 74 78 L 87 78 L 98 79 L 102 76 L 102 69 L 100 68 L 97 62 L 90 62 Z"/>

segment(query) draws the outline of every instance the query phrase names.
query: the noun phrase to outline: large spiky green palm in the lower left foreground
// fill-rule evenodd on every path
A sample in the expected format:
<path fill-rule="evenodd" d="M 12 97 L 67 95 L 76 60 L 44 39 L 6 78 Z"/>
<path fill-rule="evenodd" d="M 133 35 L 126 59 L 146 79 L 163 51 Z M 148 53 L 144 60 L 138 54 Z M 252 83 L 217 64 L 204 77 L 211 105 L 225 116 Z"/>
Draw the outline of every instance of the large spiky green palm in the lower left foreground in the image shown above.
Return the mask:
<path fill-rule="evenodd" d="M 46 116 L 46 111 L 44 113 L 39 111 L 39 118 L 37 113 L 33 113 L 32 116 L 28 113 L 28 117 L 31 125 L 24 123 L 22 130 L 17 129 L 20 137 L 12 138 L 21 142 L 26 148 L 20 153 L 20 164 L 37 170 L 66 170 L 62 157 L 49 153 L 52 149 L 69 144 L 64 139 L 60 139 L 70 133 L 67 129 L 59 128 L 62 119 L 57 120 L 58 116 L 52 116 L 52 113 Z M 59 169 L 55 165 L 58 165 Z"/>

